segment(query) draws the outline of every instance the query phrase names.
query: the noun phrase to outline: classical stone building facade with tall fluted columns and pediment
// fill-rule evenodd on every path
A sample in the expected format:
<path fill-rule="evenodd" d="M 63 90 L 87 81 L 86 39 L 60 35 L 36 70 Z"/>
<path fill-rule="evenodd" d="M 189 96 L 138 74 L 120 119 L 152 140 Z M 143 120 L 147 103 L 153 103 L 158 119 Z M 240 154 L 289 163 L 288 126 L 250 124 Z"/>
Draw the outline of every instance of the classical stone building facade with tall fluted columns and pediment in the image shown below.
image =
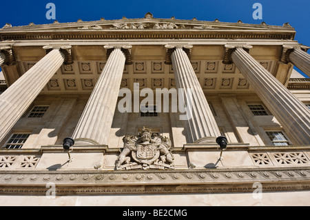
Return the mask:
<path fill-rule="evenodd" d="M 310 59 L 295 34 L 151 13 L 7 23 L 1 204 L 309 205 L 310 80 L 293 66 L 309 77 Z"/>

